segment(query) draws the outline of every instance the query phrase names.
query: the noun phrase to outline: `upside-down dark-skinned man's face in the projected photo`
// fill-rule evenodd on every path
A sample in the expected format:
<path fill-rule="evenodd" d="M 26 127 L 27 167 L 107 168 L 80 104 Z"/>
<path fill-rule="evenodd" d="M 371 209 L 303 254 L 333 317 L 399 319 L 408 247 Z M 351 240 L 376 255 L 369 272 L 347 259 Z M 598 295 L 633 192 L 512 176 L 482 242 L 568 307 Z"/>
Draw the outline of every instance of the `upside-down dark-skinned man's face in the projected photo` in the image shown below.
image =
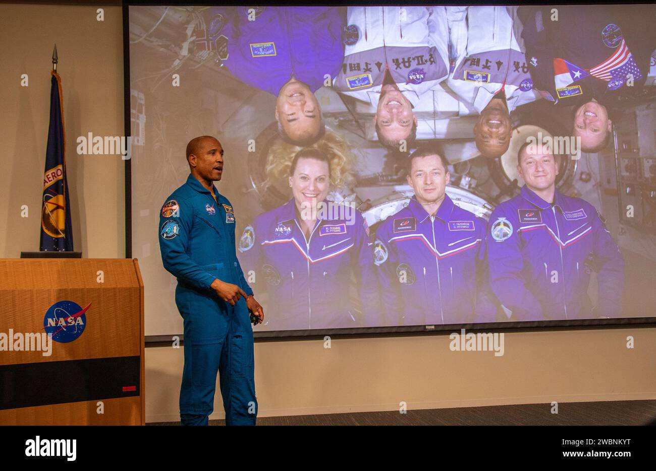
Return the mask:
<path fill-rule="evenodd" d="M 495 159 L 508 150 L 512 126 L 504 100 L 491 100 L 474 124 L 476 147 L 488 159 Z"/>

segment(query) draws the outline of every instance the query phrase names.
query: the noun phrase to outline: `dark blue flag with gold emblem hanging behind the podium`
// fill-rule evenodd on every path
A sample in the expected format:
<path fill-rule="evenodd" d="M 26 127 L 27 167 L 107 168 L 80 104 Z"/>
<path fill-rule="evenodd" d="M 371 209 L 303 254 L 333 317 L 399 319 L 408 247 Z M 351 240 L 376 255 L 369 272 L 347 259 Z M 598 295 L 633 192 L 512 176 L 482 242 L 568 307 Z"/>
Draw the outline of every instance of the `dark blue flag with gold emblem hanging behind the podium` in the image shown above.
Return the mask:
<path fill-rule="evenodd" d="M 62 79 L 58 73 L 52 71 L 50 126 L 41 204 L 41 252 L 72 252 L 73 250 L 64 136 Z"/>

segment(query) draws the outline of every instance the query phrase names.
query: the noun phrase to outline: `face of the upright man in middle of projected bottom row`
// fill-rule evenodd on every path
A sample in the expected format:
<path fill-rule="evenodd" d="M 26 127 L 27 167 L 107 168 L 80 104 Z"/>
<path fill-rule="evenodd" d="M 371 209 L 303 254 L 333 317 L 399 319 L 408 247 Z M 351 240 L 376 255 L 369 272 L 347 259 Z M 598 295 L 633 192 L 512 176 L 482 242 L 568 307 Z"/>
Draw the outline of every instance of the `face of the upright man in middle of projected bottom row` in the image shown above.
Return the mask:
<path fill-rule="evenodd" d="M 450 179 L 451 175 L 444 168 L 438 155 L 412 159 L 412 168 L 407 176 L 408 185 L 413 187 L 417 201 L 421 204 L 433 203 L 444 198 Z"/>

